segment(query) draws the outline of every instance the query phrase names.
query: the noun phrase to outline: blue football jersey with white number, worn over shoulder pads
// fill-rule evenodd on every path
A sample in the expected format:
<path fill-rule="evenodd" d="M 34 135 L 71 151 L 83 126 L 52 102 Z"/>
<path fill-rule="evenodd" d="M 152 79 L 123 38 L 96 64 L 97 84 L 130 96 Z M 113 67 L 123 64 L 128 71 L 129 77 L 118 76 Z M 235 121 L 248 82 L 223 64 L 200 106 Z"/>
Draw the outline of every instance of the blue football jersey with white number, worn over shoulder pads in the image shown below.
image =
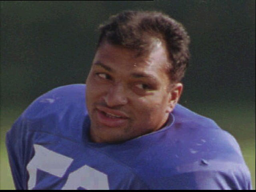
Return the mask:
<path fill-rule="evenodd" d="M 94 143 L 86 86 L 37 98 L 6 135 L 16 189 L 251 189 L 238 143 L 209 118 L 176 105 L 166 126 Z"/>

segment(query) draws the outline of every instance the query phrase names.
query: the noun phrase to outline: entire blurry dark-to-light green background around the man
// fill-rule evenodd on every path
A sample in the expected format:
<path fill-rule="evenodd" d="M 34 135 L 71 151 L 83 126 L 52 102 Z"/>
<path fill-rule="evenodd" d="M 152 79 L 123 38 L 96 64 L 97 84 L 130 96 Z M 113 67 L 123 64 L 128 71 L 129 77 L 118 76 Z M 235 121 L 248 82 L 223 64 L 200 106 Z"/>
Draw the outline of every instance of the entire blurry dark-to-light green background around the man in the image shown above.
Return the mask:
<path fill-rule="evenodd" d="M 184 24 L 192 42 L 180 103 L 235 136 L 255 189 L 255 0 L 2 1 L 0 189 L 14 189 L 6 131 L 41 94 L 84 83 L 98 24 L 127 9 Z"/>

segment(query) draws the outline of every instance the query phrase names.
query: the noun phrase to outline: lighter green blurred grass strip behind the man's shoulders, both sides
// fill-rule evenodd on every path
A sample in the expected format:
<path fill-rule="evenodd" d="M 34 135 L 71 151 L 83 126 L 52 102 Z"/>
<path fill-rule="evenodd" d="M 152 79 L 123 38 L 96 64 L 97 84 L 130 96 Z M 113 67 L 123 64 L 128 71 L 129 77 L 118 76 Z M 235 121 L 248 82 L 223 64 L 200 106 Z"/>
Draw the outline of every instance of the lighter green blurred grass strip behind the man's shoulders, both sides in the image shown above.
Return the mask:
<path fill-rule="evenodd" d="M 188 106 L 188 105 L 186 105 Z M 221 106 L 221 108 L 217 107 Z M 251 172 L 252 186 L 255 189 L 255 103 L 238 105 L 197 104 L 188 106 L 199 114 L 214 119 L 220 127 L 230 132 L 238 140 L 244 160 Z M 14 120 L 25 109 L 1 107 L 0 115 L 0 190 L 15 189 L 5 147 L 5 134 Z"/>

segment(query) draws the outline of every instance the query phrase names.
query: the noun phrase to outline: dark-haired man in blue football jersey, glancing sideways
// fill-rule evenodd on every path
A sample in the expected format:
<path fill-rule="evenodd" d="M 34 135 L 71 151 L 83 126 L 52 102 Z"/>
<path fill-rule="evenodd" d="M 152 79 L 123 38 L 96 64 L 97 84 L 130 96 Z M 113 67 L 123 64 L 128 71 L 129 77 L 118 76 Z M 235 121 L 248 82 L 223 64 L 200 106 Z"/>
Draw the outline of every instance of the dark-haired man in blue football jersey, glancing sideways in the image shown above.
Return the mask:
<path fill-rule="evenodd" d="M 40 96 L 7 133 L 16 188 L 250 189 L 236 140 L 177 104 L 188 44 L 160 12 L 100 26 L 86 85 Z"/>

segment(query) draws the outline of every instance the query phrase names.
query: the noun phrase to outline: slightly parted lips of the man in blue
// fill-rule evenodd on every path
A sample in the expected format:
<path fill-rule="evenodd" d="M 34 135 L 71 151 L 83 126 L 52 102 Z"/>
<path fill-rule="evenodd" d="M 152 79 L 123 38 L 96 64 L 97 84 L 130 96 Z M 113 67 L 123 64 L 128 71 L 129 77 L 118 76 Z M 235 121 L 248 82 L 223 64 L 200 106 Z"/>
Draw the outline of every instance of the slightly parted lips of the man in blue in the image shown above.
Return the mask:
<path fill-rule="evenodd" d="M 112 110 L 103 106 L 96 107 L 98 122 L 108 127 L 122 126 L 128 120 L 128 115 L 119 110 Z"/>

